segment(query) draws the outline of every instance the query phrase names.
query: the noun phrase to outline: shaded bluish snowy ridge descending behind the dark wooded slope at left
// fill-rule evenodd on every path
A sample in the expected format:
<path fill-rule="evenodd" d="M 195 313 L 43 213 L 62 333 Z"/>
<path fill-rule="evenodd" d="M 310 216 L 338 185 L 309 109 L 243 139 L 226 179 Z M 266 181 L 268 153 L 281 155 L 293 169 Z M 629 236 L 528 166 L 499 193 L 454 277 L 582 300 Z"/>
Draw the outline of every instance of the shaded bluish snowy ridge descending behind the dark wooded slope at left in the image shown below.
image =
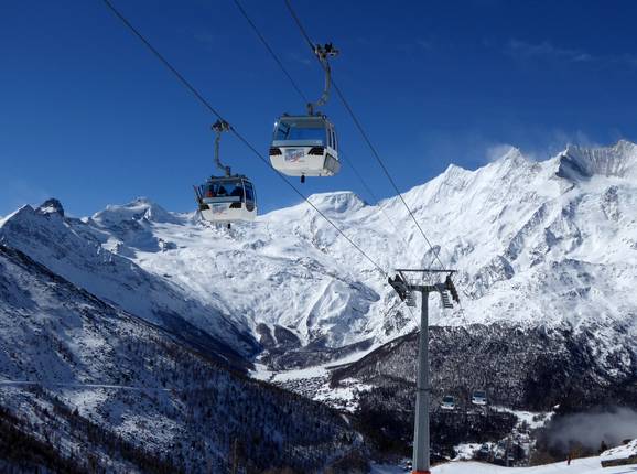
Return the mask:
<path fill-rule="evenodd" d="M 215 308 L 187 298 L 170 280 L 109 251 L 100 237 L 109 238 L 82 220 L 65 218 L 55 200 L 36 209 L 24 206 L 0 222 L 1 244 L 25 252 L 102 300 L 177 332 L 210 353 L 240 360 L 255 351 L 249 334 Z"/>

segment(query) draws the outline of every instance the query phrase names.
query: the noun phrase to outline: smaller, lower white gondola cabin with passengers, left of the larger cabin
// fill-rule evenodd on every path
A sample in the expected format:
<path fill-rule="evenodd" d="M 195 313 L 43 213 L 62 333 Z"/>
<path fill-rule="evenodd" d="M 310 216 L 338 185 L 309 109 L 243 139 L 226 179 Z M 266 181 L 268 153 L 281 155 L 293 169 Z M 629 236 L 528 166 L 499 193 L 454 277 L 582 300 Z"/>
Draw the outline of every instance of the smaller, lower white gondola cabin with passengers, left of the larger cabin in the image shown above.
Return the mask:
<path fill-rule="evenodd" d="M 230 224 L 257 217 L 255 187 L 246 176 L 213 176 L 195 187 L 195 195 L 205 220 Z"/>

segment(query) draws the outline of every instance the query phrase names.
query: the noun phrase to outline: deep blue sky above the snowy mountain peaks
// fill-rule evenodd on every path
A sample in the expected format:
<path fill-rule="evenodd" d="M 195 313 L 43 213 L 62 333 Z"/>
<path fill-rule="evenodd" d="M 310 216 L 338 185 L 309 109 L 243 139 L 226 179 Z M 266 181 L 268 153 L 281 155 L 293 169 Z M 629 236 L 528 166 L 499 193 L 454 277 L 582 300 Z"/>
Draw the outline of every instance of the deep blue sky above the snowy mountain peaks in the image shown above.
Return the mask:
<path fill-rule="evenodd" d="M 231 0 L 112 0 L 267 153 L 273 121 L 303 104 Z M 322 72 L 283 0 L 241 0 L 310 97 Z M 631 1 L 294 0 L 401 191 L 503 144 L 543 159 L 568 142 L 637 140 Z M 0 14 L 0 215 L 58 197 L 73 215 L 149 196 L 194 207 L 215 120 L 101 1 L 4 2 Z M 378 196 L 392 195 L 337 97 L 323 110 Z M 256 183 L 261 211 L 299 202 L 231 137 L 222 154 Z M 292 179 L 296 184 L 298 181 Z M 353 190 L 346 166 L 306 194 Z"/>

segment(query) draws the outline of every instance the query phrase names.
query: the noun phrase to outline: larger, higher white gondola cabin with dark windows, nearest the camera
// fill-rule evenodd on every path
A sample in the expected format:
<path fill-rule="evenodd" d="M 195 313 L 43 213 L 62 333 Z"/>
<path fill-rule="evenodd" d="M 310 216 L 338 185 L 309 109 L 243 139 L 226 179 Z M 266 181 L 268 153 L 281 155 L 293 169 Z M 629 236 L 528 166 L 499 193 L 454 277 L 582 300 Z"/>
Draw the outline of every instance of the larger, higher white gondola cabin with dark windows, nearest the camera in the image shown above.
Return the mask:
<path fill-rule="evenodd" d="M 274 123 L 272 166 L 289 176 L 333 176 L 341 170 L 334 126 L 325 116 L 283 116 Z"/>

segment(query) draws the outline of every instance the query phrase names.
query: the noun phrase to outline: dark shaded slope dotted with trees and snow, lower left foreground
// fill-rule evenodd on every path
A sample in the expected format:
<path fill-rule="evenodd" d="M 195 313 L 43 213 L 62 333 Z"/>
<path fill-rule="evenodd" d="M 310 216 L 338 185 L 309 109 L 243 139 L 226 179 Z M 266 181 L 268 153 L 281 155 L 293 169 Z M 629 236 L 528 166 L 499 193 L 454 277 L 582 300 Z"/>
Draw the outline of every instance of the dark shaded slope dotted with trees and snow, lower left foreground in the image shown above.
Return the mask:
<path fill-rule="evenodd" d="M 3 428 L 8 420 L 77 472 L 229 472 L 235 442 L 258 472 L 311 472 L 354 440 L 338 413 L 230 371 L 0 245 Z M 31 455 L 22 446 L 9 457 L 24 467 Z M 1 472 L 41 471 L 0 457 Z"/>

